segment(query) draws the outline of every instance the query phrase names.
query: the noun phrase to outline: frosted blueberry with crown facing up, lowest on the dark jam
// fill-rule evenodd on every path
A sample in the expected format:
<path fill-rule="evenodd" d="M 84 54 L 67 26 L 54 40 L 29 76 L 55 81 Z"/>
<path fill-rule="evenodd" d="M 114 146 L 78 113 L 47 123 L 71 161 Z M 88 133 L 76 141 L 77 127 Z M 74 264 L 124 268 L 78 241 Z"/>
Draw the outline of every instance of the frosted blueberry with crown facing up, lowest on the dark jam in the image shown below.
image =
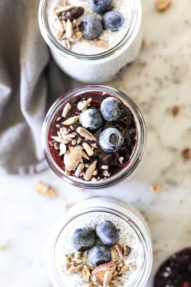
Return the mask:
<path fill-rule="evenodd" d="M 116 152 L 123 145 L 122 133 L 114 127 L 108 127 L 100 134 L 99 143 L 105 152 Z"/>

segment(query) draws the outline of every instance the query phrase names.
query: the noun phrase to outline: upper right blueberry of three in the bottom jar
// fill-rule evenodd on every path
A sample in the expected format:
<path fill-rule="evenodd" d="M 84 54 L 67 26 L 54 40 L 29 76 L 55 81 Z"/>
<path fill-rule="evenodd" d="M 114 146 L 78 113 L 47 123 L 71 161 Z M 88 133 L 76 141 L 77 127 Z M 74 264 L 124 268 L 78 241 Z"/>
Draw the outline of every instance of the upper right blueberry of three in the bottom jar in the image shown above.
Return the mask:
<path fill-rule="evenodd" d="M 112 246 L 119 241 L 117 227 L 109 220 L 102 220 L 96 226 L 96 234 L 106 246 Z"/>

